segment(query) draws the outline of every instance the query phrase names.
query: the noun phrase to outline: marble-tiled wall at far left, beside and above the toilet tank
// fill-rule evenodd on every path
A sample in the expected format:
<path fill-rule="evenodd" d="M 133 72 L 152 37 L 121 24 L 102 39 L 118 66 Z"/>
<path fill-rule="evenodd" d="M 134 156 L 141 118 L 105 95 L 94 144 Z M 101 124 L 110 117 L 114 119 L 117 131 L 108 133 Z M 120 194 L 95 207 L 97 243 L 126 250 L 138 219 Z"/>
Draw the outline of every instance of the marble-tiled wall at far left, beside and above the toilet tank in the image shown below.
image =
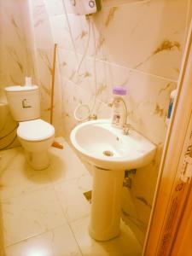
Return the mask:
<path fill-rule="evenodd" d="M 19 144 L 15 140 L 17 124 L 9 113 L 3 88 L 23 84 L 28 73 L 26 33 L 22 20 L 25 4 L 21 0 L 0 0 L 0 149 Z"/>

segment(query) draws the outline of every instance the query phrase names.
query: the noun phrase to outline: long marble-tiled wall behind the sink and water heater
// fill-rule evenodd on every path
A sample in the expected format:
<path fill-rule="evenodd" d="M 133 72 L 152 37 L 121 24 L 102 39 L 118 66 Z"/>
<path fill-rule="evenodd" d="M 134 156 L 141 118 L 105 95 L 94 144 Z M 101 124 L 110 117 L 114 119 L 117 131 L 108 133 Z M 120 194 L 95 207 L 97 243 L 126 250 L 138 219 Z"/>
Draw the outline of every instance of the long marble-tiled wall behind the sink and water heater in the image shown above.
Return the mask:
<path fill-rule="evenodd" d="M 24 16 L 27 63 L 34 82 L 40 85 L 42 117 L 49 120 L 57 43 L 54 125 L 58 133 L 69 136 L 77 124 L 73 111 L 82 103 L 89 104 L 98 118 L 110 118 L 108 102 L 113 86 L 119 85 L 128 90 L 128 121 L 158 147 L 153 163 L 131 174 L 131 182 L 124 187 L 123 218 L 143 243 L 191 1 L 103 0 L 102 11 L 90 18 L 73 15 L 69 0 L 24 2 L 29 7 Z M 83 116 L 83 109 L 79 115 Z"/>

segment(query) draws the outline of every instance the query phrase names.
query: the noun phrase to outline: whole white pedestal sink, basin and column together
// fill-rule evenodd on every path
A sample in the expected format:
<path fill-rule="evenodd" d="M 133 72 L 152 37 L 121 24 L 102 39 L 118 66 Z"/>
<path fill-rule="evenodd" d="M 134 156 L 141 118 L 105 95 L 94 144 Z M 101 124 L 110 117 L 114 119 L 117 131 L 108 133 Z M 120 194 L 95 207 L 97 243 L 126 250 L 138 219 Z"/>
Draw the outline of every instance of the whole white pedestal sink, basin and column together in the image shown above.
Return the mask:
<path fill-rule="evenodd" d="M 148 165 L 154 158 L 155 146 L 136 131 L 124 135 L 108 119 L 77 125 L 71 141 L 93 166 L 90 236 L 108 241 L 120 233 L 124 171 Z"/>

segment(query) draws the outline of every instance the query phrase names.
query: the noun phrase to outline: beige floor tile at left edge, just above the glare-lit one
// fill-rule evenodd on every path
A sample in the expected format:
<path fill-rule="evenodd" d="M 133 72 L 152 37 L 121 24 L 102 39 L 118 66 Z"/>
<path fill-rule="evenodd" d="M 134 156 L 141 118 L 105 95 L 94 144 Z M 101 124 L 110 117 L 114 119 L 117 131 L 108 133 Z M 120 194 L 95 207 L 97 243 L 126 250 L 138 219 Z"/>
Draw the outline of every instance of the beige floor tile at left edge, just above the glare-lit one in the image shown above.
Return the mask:
<path fill-rule="evenodd" d="M 66 223 L 55 190 L 44 188 L 2 203 L 5 246 Z"/>

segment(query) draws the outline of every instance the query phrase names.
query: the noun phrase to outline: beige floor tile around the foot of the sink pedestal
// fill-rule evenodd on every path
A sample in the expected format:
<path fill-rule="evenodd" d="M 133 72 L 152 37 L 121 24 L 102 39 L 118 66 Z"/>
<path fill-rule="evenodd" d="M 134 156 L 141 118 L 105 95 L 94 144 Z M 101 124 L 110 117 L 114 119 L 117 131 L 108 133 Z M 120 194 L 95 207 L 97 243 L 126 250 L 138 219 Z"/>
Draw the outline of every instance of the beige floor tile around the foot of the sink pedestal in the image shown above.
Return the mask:
<path fill-rule="evenodd" d="M 88 233 L 89 218 L 70 224 L 84 256 L 141 256 L 142 248 L 131 230 L 121 224 L 121 234 L 110 241 L 98 242 Z"/>

